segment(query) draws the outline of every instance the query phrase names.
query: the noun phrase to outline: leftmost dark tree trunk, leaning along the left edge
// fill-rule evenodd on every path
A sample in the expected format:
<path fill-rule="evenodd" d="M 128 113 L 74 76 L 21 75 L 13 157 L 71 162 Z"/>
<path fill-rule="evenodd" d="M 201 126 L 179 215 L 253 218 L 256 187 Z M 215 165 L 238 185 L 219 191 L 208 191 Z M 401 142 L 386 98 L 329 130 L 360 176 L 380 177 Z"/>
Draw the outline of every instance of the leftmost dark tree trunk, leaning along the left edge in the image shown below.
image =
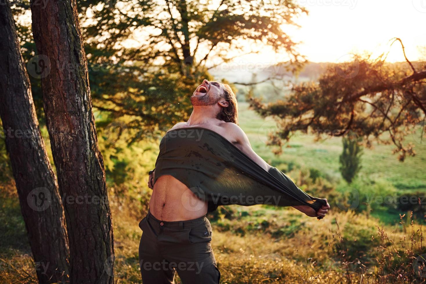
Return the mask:
<path fill-rule="evenodd" d="M 9 2 L 0 5 L 0 117 L 40 283 L 67 281 L 68 240 Z M 46 269 L 46 270 L 45 270 Z"/>

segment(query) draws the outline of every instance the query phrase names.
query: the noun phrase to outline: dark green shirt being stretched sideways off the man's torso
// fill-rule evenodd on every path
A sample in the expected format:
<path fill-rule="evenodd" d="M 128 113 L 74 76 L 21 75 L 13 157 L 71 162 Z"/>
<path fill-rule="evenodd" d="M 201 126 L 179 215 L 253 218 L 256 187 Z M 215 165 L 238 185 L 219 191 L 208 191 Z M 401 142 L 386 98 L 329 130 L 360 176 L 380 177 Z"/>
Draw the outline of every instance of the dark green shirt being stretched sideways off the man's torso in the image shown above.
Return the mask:
<path fill-rule="evenodd" d="M 318 211 L 326 202 L 303 192 L 284 173 L 263 169 L 225 137 L 207 128 L 171 130 L 160 142 L 155 181 L 171 175 L 208 202 L 220 205 L 308 205 Z"/>

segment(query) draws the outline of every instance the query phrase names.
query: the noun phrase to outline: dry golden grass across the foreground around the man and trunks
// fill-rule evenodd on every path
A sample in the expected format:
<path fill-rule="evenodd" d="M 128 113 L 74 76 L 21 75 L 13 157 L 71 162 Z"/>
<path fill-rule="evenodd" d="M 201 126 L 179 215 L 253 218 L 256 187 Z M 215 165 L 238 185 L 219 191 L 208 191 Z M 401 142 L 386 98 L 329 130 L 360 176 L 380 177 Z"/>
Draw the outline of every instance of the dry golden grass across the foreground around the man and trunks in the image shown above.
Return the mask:
<path fill-rule="evenodd" d="M 2 192 L 17 202 L 10 190 Z M 146 203 L 115 200 L 115 281 L 141 283 L 138 222 Z M 10 202 L 2 204 L 7 215 Z M 222 283 L 426 283 L 413 266 L 426 253 L 423 228 L 411 216 L 400 219 L 390 227 L 354 212 L 331 212 L 317 221 L 268 206 L 226 207 L 210 218 Z M 0 283 L 37 282 L 25 250 L 2 249 L 7 253 L 0 256 Z"/>

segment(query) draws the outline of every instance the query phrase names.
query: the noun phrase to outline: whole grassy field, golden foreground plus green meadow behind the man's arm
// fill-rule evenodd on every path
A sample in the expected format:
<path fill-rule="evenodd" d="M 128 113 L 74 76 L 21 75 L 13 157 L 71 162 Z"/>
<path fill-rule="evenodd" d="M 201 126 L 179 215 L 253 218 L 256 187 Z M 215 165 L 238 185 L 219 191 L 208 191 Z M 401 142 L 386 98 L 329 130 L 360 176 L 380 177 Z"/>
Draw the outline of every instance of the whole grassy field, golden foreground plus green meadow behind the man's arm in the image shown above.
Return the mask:
<path fill-rule="evenodd" d="M 349 186 L 338 170 L 341 139 L 314 142 L 313 137 L 296 135 L 291 148 L 275 156 L 265 145 L 273 122 L 259 118 L 245 102 L 239 108 L 240 126 L 255 151 L 271 165 L 287 170 L 298 185 L 306 179 L 301 175 L 305 169 L 316 169 L 322 176 L 322 187 L 315 183 L 320 197 L 330 200 L 340 187 Z M 351 186 L 363 194 L 426 192 L 426 146 L 417 143 L 417 156 L 403 163 L 391 154 L 392 148 L 374 145 L 364 150 L 363 168 Z M 135 187 L 130 182 L 109 186 L 111 196 L 123 192 L 121 201 L 111 204 L 117 283 L 141 283 L 138 222 L 146 214 L 151 191 L 145 177 L 139 179 L 136 190 L 129 189 Z M 303 188 L 311 190 L 308 185 L 303 183 Z M 328 191 L 321 193 L 318 188 Z M 0 283 L 36 283 L 13 183 L 1 185 L 0 193 Z M 426 278 L 416 270 L 417 258 L 426 253 L 422 220 L 395 208 L 371 210 L 370 214 L 333 207 L 327 218 L 317 221 L 292 208 L 221 207 L 209 218 L 222 283 L 424 283 Z M 178 276 L 176 283 L 181 283 Z"/>

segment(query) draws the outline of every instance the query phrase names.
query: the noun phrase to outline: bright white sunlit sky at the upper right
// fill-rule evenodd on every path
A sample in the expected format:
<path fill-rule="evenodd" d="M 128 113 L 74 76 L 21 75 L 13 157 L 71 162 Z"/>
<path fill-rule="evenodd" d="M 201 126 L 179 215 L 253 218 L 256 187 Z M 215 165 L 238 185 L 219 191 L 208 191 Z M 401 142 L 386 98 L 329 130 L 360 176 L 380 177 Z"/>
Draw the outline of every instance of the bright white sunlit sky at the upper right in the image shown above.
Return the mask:
<path fill-rule="evenodd" d="M 283 29 L 300 42 L 299 52 L 311 62 L 340 62 L 352 52 L 380 55 L 387 61 L 404 61 L 400 37 L 410 61 L 426 59 L 426 0 L 298 0 L 309 14 L 296 20 L 301 28 Z M 282 56 L 265 50 L 242 61 L 274 62 Z M 236 60 L 237 62 L 239 60 Z M 282 60 L 280 60 L 282 61 Z"/>

